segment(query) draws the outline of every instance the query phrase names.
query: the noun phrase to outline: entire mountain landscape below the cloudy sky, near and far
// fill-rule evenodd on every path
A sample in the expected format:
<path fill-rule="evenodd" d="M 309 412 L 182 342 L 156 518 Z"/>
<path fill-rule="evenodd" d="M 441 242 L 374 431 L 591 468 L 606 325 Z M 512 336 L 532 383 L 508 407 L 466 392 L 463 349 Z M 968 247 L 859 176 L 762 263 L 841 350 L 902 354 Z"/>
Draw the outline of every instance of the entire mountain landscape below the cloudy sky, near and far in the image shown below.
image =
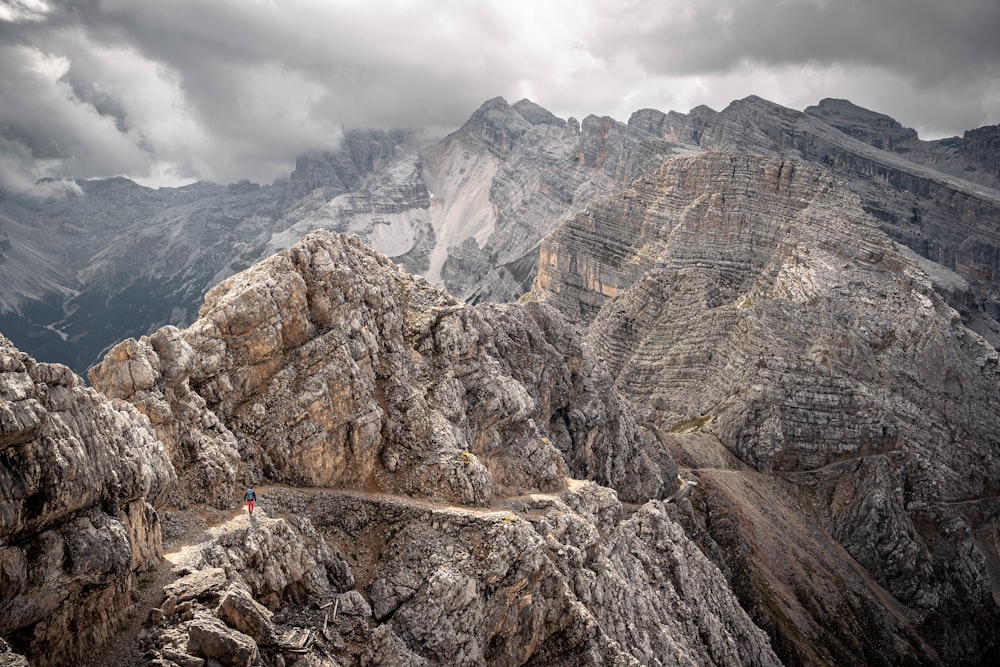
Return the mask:
<path fill-rule="evenodd" d="M 418 137 L 0 201 L 0 662 L 1000 659 L 997 128 Z"/>

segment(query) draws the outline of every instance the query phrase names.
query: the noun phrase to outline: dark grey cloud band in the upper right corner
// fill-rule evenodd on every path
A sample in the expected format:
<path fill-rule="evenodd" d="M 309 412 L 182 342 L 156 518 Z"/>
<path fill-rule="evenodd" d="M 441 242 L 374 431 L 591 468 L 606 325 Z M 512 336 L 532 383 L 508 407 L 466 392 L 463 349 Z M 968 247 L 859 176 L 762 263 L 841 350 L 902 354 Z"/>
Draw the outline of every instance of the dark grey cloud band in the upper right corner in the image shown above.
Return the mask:
<path fill-rule="evenodd" d="M 744 0 L 649 2 L 648 14 L 608 34 L 651 71 L 708 73 L 752 62 L 872 65 L 925 85 L 996 72 L 994 0 Z M 637 34 L 640 36 L 636 40 Z"/>

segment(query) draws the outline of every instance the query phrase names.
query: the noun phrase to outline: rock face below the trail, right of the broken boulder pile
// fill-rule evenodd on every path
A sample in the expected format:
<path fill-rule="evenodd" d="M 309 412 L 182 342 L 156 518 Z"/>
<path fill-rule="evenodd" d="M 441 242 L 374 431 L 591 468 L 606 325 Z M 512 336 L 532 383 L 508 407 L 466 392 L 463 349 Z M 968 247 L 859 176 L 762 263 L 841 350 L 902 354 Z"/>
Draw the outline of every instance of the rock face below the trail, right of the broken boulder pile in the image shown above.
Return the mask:
<path fill-rule="evenodd" d="M 361 631 L 345 611 L 370 619 L 363 655 L 384 664 L 423 664 L 410 651 L 451 665 L 779 664 L 659 501 L 629 517 L 610 489 L 574 483 L 492 510 L 332 490 L 272 502 L 326 517 L 330 543 L 371 573 L 337 598 L 336 627 Z"/>

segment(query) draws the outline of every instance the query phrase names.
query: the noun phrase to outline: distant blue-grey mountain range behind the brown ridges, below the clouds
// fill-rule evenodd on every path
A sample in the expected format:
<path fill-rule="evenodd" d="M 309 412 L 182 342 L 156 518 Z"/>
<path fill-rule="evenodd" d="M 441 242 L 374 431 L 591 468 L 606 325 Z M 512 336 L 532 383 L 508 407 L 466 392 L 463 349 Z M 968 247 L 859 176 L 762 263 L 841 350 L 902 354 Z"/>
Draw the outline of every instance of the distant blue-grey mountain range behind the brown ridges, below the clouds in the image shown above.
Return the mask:
<path fill-rule="evenodd" d="M 75 196 L 0 195 L 0 330 L 82 373 L 124 338 L 187 326 L 206 290 L 315 228 L 361 235 L 460 299 L 509 301 L 561 220 L 667 157 L 722 149 L 844 176 L 894 239 L 962 276 L 950 303 L 996 343 L 996 128 L 920 142 L 897 126 L 830 100 L 807 113 L 759 98 L 642 110 L 623 124 L 496 98 L 438 141 L 349 131 L 340 151 L 304 155 L 269 186 L 110 179 Z"/>

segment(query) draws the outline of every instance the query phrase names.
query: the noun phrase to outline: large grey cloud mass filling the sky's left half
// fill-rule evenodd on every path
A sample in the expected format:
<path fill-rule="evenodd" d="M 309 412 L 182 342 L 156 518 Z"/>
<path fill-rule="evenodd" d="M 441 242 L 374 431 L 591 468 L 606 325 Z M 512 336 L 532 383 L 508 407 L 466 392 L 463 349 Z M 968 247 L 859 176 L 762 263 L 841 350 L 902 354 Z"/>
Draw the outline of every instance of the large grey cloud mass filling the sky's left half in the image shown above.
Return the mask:
<path fill-rule="evenodd" d="M 515 41 L 502 12 L 468 3 L 46 6 L 40 21 L 0 20 L 11 37 L 2 76 L 24 102 L 0 108 L 9 140 L 43 157 L 34 146 L 47 123 L 25 118 L 41 107 L 50 120 L 111 123 L 136 152 L 116 166 L 116 153 L 66 149 L 68 175 L 141 176 L 159 161 L 181 177 L 270 180 L 302 151 L 335 146 L 344 127 L 454 126 L 510 87 L 496 64 Z"/>

